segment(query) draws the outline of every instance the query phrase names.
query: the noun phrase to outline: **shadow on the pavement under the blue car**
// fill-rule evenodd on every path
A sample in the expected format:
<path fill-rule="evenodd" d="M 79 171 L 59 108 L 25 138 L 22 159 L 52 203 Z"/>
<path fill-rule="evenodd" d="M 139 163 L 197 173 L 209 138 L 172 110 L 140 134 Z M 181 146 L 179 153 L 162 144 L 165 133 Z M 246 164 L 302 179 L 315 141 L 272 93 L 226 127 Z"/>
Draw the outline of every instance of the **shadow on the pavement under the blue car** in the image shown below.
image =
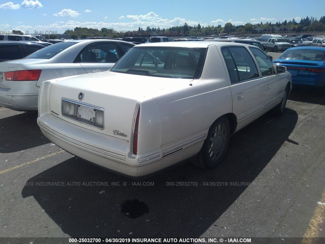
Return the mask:
<path fill-rule="evenodd" d="M 319 94 L 319 90 L 306 87 L 293 87 L 288 97 L 289 100 L 325 105 L 325 97 Z"/>

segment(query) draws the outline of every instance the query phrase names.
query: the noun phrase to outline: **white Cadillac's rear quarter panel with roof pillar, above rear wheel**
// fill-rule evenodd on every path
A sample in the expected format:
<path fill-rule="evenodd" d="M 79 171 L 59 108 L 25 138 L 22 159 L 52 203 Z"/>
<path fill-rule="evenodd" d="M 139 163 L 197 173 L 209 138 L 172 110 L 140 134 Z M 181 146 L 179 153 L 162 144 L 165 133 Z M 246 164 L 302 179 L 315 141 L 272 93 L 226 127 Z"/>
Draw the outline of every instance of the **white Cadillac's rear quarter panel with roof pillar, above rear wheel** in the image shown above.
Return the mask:
<path fill-rule="evenodd" d="M 232 112 L 228 78 L 214 45 L 209 47 L 201 78 L 184 82 L 184 89 L 155 98 L 163 150 L 207 133 L 218 117 Z"/>

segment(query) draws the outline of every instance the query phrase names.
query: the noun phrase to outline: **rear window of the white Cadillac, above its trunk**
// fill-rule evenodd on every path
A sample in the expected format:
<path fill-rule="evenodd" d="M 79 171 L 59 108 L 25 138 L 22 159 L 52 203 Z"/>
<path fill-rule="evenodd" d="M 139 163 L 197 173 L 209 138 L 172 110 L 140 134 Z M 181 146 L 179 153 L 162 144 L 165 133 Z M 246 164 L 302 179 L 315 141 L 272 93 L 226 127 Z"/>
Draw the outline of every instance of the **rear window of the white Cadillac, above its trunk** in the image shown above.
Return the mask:
<path fill-rule="evenodd" d="M 111 69 L 113 72 L 197 79 L 207 48 L 137 47 L 129 50 Z"/>

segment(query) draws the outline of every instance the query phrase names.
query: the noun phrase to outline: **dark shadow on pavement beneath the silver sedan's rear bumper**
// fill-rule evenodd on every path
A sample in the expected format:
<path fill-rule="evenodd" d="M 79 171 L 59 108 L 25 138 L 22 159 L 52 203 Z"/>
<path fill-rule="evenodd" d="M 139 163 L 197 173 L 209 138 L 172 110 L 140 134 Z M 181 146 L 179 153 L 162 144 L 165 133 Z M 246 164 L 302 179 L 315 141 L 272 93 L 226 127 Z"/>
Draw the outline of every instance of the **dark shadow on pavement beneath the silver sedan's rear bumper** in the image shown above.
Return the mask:
<path fill-rule="evenodd" d="M 37 112 L 25 112 L 0 119 L 0 153 L 13 153 L 50 141 L 37 125 Z"/>

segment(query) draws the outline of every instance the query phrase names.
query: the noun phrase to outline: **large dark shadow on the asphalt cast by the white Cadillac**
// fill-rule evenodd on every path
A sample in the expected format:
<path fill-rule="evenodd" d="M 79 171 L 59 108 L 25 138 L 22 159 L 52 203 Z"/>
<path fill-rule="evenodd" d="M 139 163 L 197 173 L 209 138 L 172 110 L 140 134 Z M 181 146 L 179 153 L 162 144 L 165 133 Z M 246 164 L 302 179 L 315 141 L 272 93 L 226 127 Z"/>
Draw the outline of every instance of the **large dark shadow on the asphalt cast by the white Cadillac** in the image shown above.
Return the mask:
<path fill-rule="evenodd" d="M 135 180 L 74 157 L 30 178 L 21 194 L 75 238 L 199 237 L 224 228 L 218 218 L 290 142 L 297 121 L 291 109 L 265 114 L 232 136 L 223 163 L 210 171 L 185 163 Z"/>

